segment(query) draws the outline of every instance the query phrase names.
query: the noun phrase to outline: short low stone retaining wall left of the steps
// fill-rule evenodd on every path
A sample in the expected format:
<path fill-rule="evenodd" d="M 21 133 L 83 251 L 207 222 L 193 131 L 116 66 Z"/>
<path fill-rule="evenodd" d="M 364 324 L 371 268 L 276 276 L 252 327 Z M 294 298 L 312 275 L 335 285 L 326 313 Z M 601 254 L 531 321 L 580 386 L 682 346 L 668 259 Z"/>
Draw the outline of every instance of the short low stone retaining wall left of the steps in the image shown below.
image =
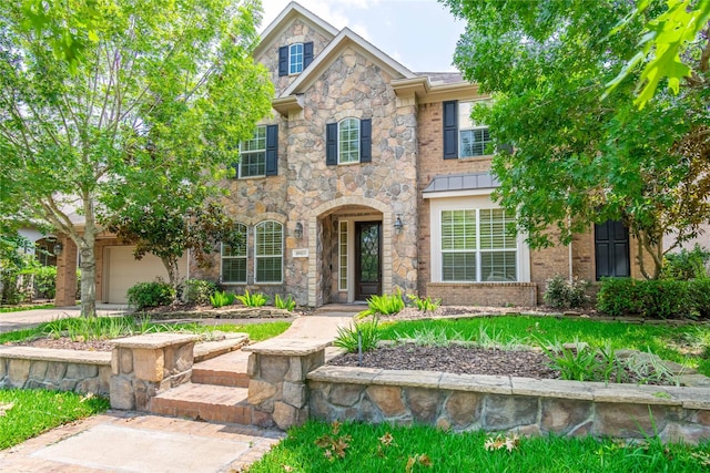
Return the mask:
<path fill-rule="evenodd" d="M 0 388 L 109 394 L 111 353 L 0 347 Z"/>

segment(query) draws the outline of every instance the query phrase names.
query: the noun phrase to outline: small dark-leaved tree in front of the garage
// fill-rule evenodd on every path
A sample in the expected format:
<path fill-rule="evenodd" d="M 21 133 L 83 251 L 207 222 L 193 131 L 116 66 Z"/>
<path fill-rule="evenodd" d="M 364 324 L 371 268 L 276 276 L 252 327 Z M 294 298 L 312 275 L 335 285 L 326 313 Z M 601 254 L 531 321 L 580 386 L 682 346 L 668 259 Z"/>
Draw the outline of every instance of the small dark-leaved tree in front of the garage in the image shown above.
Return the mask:
<path fill-rule="evenodd" d="M 186 251 L 199 265 L 221 241 L 234 238 L 234 220 L 222 206 L 184 195 L 164 195 L 150 205 L 132 206 L 110 223 L 109 229 L 125 243 L 134 244 L 134 256 L 141 259 L 151 253 L 163 261 L 170 285 L 179 294 L 182 284 L 178 260 Z"/>

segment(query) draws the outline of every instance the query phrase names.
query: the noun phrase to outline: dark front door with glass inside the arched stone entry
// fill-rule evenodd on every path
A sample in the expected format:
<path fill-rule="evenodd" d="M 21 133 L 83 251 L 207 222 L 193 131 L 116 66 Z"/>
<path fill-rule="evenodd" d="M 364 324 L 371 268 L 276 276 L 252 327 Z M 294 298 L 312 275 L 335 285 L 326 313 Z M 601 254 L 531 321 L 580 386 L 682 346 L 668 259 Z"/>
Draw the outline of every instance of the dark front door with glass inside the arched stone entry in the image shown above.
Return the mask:
<path fill-rule="evenodd" d="M 379 295 L 382 223 L 355 223 L 355 300 Z"/>

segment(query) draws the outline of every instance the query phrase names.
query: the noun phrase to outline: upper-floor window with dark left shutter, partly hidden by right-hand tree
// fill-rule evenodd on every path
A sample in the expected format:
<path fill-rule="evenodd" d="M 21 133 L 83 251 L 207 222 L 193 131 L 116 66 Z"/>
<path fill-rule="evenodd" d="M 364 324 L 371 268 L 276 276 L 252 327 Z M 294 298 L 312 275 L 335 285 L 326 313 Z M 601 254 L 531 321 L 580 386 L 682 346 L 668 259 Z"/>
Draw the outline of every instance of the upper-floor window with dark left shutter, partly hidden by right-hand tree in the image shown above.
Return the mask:
<path fill-rule="evenodd" d="M 444 102 L 444 158 L 485 156 L 490 154 L 488 126 L 475 123 L 470 113 L 474 102 Z"/>

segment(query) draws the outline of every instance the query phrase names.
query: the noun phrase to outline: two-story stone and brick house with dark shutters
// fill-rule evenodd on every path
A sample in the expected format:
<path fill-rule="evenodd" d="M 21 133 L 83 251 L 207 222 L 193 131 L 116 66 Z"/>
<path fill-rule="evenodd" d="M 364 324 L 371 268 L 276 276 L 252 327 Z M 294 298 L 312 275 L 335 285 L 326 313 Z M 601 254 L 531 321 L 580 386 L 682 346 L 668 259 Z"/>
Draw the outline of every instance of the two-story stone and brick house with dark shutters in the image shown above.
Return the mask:
<path fill-rule="evenodd" d="M 222 245 L 209 268 L 191 263 L 190 277 L 313 307 L 397 290 L 535 306 L 555 274 L 638 274 L 619 224 L 535 251 L 506 233 L 515 214 L 490 197 L 489 130 L 470 120 L 489 97 L 459 74 L 409 71 L 295 2 L 264 30 L 254 60 L 276 95 L 224 183 L 243 244 Z M 118 297 L 113 264 L 98 261 L 104 301 Z"/>

